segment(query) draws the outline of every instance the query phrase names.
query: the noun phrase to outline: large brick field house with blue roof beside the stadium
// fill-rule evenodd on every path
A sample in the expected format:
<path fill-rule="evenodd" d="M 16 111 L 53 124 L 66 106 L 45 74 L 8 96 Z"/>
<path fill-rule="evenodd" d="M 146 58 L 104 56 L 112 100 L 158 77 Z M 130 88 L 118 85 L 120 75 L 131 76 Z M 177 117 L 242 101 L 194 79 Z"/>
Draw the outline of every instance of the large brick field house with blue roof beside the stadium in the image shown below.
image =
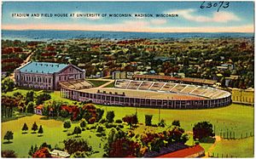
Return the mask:
<path fill-rule="evenodd" d="M 15 70 L 15 83 L 20 87 L 60 89 L 59 82 L 84 79 L 85 71 L 75 65 L 28 62 Z"/>

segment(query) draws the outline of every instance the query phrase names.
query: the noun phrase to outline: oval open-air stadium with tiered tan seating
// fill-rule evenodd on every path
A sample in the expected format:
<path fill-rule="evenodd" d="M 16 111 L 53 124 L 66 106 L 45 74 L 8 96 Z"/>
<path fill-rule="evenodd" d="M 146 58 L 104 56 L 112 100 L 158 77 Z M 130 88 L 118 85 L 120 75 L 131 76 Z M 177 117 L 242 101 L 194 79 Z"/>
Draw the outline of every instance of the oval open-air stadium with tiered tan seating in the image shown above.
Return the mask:
<path fill-rule="evenodd" d="M 161 109 L 206 109 L 230 105 L 227 91 L 177 82 L 119 79 L 114 88 L 90 88 L 90 83 L 60 82 L 61 97 L 91 100 L 99 105 L 136 106 Z"/>

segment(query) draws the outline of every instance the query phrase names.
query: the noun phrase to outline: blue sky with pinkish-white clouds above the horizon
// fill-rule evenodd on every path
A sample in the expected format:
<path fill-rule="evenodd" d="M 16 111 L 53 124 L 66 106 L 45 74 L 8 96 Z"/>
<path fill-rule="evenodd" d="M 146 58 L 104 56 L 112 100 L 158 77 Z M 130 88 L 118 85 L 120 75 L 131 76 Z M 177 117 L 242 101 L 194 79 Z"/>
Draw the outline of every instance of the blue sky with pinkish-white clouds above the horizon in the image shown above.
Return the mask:
<path fill-rule="evenodd" d="M 202 2 L 4 2 L 2 28 L 84 31 L 253 32 L 253 2 L 200 9 Z M 214 2 L 212 2 L 214 3 Z M 218 2 L 217 2 L 218 3 Z M 205 3 L 207 5 L 207 3 Z M 219 5 L 219 4 L 218 4 Z M 12 14 L 178 14 L 172 18 L 19 18 Z"/>

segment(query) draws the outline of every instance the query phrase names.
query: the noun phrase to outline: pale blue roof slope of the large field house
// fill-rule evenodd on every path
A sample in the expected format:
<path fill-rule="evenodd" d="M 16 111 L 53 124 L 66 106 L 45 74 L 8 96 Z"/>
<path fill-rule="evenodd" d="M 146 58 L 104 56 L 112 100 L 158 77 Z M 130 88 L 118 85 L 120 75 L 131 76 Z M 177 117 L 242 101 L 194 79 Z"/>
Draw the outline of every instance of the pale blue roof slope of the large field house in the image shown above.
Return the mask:
<path fill-rule="evenodd" d="M 67 64 L 51 63 L 51 62 L 30 62 L 20 69 L 21 72 L 31 73 L 55 73 L 67 67 Z"/>

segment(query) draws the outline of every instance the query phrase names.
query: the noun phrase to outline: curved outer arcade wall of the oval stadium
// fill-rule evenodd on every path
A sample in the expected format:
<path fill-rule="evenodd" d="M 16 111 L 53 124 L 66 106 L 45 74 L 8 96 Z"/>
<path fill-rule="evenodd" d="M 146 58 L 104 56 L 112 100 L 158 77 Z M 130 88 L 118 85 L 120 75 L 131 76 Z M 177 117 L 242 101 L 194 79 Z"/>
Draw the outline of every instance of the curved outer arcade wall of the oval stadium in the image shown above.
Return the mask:
<path fill-rule="evenodd" d="M 177 99 L 150 99 L 133 98 L 125 94 L 103 94 L 103 93 L 84 93 L 79 90 L 61 88 L 61 97 L 78 101 L 91 100 L 98 105 L 119 105 L 136 106 L 161 109 L 207 109 L 230 105 L 232 103 L 230 96 L 219 99 L 201 99 L 201 100 L 177 100 Z"/>

